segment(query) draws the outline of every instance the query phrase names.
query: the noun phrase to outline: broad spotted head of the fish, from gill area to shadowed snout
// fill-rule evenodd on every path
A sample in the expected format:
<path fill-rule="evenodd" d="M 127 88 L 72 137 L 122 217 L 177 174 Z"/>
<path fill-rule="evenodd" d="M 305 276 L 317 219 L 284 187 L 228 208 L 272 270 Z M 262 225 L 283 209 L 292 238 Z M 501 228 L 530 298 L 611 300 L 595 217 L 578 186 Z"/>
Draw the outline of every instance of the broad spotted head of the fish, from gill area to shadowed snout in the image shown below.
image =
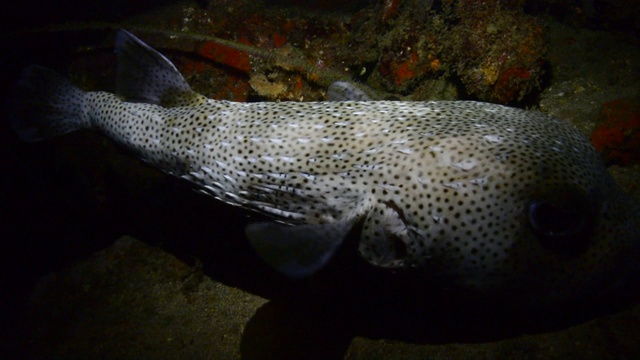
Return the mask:
<path fill-rule="evenodd" d="M 376 211 L 386 218 L 371 224 L 400 230 L 368 236 L 374 226 L 365 221 L 361 255 L 536 304 L 604 294 L 638 278 L 637 200 L 577 129 L 542 114 L 525 117 L 517 126 L 500 119 L 435 134 L 420 155 L 430 159 L 429 179 L 409 197 L 418 209 L 405 207 L 405 198 Z M 393 244 L 386 252 L 385 241 Z"/>

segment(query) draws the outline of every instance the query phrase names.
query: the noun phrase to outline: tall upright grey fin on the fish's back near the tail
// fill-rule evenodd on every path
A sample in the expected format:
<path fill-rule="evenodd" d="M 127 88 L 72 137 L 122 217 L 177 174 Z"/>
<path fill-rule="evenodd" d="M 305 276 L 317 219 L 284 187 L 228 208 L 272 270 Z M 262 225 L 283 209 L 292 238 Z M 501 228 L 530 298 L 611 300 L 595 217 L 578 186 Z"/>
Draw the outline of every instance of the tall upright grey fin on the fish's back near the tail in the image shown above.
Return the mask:
<path fill-rule="evenodd" d="M 116 94 L 126 101 L 165 107 L 198 105 L 206 98 L 191 90 L 178 69 L 142 40 L 126 30 L 118 31 Z"/>

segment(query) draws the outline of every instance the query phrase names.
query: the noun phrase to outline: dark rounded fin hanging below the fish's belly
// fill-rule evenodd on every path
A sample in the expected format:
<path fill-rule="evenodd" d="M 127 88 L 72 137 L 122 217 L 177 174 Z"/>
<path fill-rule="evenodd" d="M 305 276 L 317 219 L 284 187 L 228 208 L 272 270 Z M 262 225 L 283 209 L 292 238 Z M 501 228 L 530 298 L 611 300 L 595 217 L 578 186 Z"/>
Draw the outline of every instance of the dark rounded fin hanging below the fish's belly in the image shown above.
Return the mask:
<path fill-rule="evenodd" d="M 250 224 L 247 237 L 260 257 L 291 277 L 309 276 L 329 262 L 353 226 L 353 221 L 321 225 Z"/>

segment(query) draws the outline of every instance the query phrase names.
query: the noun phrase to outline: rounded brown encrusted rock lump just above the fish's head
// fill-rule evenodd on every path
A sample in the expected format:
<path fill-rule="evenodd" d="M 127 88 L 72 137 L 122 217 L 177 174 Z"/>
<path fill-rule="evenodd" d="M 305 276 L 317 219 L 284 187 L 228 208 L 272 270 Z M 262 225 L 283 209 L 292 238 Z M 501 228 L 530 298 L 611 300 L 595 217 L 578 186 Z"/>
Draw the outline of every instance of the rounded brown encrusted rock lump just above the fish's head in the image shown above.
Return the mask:
<path fill-rule="evenodd" d="M 503 6 L 466 0 L 455 5 L 459 22 L 445 36 L 444 58 L 465 90 L 480 100 L 512 103 L 540 83 L 546 52 L 544 26 L 519 2 Z"/>

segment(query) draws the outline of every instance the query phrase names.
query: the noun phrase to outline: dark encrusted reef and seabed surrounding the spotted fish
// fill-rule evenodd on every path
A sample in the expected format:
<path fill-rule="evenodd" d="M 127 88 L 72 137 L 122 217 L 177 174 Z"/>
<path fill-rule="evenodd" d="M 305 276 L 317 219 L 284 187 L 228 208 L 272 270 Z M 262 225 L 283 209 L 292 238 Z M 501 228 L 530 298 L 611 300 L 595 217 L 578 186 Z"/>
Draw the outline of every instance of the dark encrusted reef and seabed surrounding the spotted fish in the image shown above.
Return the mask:
<path fill-rule="evenodd" d="M 4 37 L 4 98 L 33 62 L 113 91 L 112 35 L 123 27 L 216 99 L 324 100 L 330 83 L 351 79 L 377 98 L 540 110 L 593 133 L 617 181 L 640 198 L 634 1 L 165 1 L 135 11 L 128 3 L 96 1 L 91 15 L 57 20 L 109 23 L 18 27 Z M 39 26 L 30 11 L 24 22 Z M 252 252 L 242 229 L 255 219 L 240 210 L 98 134 L 22 144 L 8 123 L 2 358 L 640 358 L 637 305 L 587 322 L 596 315 L 504 326 L 499 311 L 436 308 L 402 319 L 389 299 L 353 299 L 362 285 L 341 273 L 351 258 L 319 280 L 289 282 Z M 123 234 L 140 240 L 113 242 Z M 378 301 L 398 307 L 373 311 Z"/>

